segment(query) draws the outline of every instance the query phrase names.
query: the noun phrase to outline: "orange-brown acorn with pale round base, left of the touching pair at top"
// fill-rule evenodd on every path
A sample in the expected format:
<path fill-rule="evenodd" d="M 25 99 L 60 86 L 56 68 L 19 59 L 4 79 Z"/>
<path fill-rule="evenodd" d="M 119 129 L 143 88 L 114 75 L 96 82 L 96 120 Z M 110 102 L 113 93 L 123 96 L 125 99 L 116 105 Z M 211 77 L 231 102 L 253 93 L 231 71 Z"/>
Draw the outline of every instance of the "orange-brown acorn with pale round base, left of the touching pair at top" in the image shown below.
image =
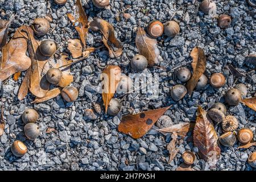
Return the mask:
<path fill-rule="evenodd" d="M 153 20 L 147 26 L 148 35 L 152 36 L 152 38 L 158 38 L 163 34 L 164 26 L 159 20 Z"/>

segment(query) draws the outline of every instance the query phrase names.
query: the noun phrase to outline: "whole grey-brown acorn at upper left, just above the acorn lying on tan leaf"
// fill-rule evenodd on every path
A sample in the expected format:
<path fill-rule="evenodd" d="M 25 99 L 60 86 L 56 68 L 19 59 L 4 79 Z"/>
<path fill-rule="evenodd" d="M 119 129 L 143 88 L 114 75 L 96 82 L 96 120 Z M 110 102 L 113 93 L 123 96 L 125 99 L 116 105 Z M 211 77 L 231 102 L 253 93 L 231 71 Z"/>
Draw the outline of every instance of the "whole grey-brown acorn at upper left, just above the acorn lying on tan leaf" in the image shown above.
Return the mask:
<path fill-rule="evenodd" d="M 46 18 L 36 18 L 32 24 L 32 29 L 36 35 L 43 36 L 49 31 L 50 24 Z"/>

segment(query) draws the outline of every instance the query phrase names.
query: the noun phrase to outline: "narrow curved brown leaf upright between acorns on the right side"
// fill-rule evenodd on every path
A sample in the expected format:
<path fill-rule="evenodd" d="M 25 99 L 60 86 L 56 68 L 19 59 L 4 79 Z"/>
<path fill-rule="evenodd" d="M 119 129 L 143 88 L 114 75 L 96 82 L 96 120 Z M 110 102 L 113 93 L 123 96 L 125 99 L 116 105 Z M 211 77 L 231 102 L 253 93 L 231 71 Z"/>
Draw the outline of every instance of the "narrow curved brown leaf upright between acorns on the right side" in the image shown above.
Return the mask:
<path fill-rule="evenodd" d="M 203 49 L 195 47 L 192 49 L 190 56 L 193 61 L 191 63 L 193 68 L 193 75 L 187 82 L 188 94 L 191 95 L 193 89 L 196 87 L 197 81 L 203 75 L 206 69 L 206 57 Z"/>

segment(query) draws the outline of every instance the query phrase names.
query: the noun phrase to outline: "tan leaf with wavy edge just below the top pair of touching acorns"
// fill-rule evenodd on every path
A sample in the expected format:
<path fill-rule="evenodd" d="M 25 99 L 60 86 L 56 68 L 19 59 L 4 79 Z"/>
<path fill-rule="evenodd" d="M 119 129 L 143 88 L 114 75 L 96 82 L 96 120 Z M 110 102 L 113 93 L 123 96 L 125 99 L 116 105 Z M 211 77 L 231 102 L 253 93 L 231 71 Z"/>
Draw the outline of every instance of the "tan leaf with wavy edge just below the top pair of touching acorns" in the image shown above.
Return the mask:
<path fill-rule="evenodd" d="M 139 54 L 147 58 L 148 65 L 152 66 L 159 63 L 158 56 L 160 51 L 156 46 L 157 41 L 147 36 L 142 27 L 138 28 L 135 43 Z"/>

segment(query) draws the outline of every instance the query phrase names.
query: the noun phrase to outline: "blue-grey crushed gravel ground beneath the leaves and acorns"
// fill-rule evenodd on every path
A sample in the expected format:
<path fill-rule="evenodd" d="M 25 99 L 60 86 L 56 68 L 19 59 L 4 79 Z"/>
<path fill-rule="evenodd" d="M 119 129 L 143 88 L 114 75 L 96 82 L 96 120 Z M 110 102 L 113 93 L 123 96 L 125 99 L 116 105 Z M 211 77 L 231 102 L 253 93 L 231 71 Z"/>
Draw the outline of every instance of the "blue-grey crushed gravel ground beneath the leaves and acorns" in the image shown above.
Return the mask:
<path fill-rule="evenodd" d="M 117 37 L 123 44 L 123 54 L 117 59 L 110 59 L 108 51 L 101 48 L 92 53 L 86 61 L 72 66 L 75 76 L 72 83 L 79 89 L 77 101 L 67 103 L 61 97 L 44 102 L 31 104 L 32 94 L 18 101 L 16 97 L 22 77 L 18 83 L 13 78 L 3 82 L 4 118 L 6 120 L 5 134 L 0 137 L 0 170 L 175 170 L 183 162 L 181 154 L 185 150 L 198 151 L 192 142 L 180 139 L 177 147 L 179 153 L 171 164 L 167 164 L 168 151 L 166 144 L 170 142 L 170 134 L 160 134 L 150 130 L 141 139 L 118 133 L 117 126 L 122 115 L 138 113 L 142 110 L 155 109 L 176 103 L 170 97 L 170 89 L 177 84 L 174 68 L 191 61 L 189 53 L 192 48 L 204 48 L 207 55 L 208 77 L 214 72 L 222 72 L 227 83 L 220 89 L 210 85 L 204 90 L 195 90 L 192 97 L 186 95 L 175 105 L 175 109 L 166 112 L 164 118 L 168 123 L 195 121 L 197 105 L 209 108 L 214 102 L 224 102 L 226 90 L 235 83 L 247 85 L 247 97 L 255 95 L 255 70 L 244 64 L 245 57 L 255 52 L 256 39 L 256 9 L 246 1 L 217 1 L 217 14 L 232 16 L 232 26 L 221 30 L 216 19 L 199 11 L 200 1 L 195 0 L 110 0 L 110 7 L 97 9 L 89 0 L 82 1 L 89 20 L 98 16 L 112 23 Z M 131 15 L 125 20 L 121 10 Z M 51 32 L 38 38 L 53 39 L 59 45 L 64 43 L 75 29 L 67 18 L 72 13 L 74 1 L 68 0 L 64 6 L 58 6 L 53 1 L 34 0 L 0 0 L 1 18 L 9 19 L 12 14 L 16 18 L 11 23 L 10 32 L 23 24 L 31 24 L 33 19 L 49 14 L 52 16 Z M 174 15 L 174 20 L 180 24 L 180 33 L 175 38 L 161 36 L 158 47 L 162 61 L 161 68 L 148 68 L 145 73 L 159 73 L 159 97 L 147 100 L 144 94 L 127 94 L 120 97 L 122 111 L 115 117 L 102 114 L 96 120 L 86 119 L 84 109 L 92 108 L 92 102 L 102 105 L 101 94 L 97 93 L 97 77 L 102 67 L 109 64 L 119 65 L 123 73 L 131 73 L 130 60 L 138 53 L 135 46 L 135 35 L 139 24 L 146 27 L 151 20 L 158 19 L 167 22 Z M 116 16 L 119 15 L 119 22 Z M 12 35 L 11 35 L 12 36 Z M 77 34 L 72 38 L 77 38 Z M 101 46 L 102 36 L 98 32 L 89 32 L 88 46 Z M 64 45 L 61 51 L 67 51 Z M 226 69 L 226 64 L 232 64 L 249 77 L 236 78 Z M 187 67 L 191 68 L 188 63 Z M 117 97 L 117 96 L 115 96 Z M 26 139 L 23 133 L 23 122 L 20 118 L 24 109 L 35 108 L 40 114 L 38 124 L 40 137 L 34 141 Z M 239 119 L 239 127 L 250 127 L 255 134 L 255 111 L 244 105 L 228 107 L 228 113 Z M 48 127 L 56 132 L 46 134 Z M 153 128 L 157 128 L 154 126 Z M 221 127 L 216 126 L 218 135 Z M 189 134 L 191 135 L 191 134 Z M 28 152 L 22 158 L 16 158 L 10 151 L 15 139 L 24 141 Z M 253 170 L 247 163 L 247 158 L 256 147 L 247 150 L 237 150 L 238 143 L 233 147 L 221 147 L 221 159 L 214 167 L 197 157 L 196 170 Z M 255 169 L 254 169 L 255 170 Z"/>

